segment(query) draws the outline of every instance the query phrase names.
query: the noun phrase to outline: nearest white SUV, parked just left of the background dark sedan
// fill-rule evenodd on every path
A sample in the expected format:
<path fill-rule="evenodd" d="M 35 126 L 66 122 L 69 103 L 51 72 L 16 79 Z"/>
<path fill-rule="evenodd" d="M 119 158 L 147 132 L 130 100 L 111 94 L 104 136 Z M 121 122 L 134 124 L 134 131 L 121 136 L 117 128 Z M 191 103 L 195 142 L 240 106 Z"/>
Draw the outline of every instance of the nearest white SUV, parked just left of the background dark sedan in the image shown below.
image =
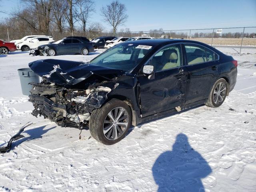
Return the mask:
<path fill-rule="evenodd" d="M 36 49 L 38 46 L 48 44 L 54 42 L 52 37 L 36 37 L 36 38 L 29 38 L 24 42 L 20 42 L 17 44 L 17 49 L 22 51 L 28 51 L 30 49 Z"/>

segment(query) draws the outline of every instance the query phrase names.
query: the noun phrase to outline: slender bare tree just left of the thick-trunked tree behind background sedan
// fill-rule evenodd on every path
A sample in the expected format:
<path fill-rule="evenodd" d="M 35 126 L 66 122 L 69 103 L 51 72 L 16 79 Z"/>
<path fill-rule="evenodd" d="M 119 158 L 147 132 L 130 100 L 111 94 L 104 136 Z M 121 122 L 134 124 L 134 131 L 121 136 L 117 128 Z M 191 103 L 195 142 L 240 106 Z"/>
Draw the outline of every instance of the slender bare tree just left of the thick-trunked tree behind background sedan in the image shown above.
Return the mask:
<path fill-rule="evenodd" d="M 65 25 L 65 21 L 66 21 L 66 17 L 65 14 L 67 12 L 68 9 L 68 4 L 66 1 L 62 1 L 62 0 L 53 0 L 53 15 L 54 15 L 54 23 L 57 25 L 57 28 L 60 32 L 60 34 L 62 34 L 63 30 L 64 30 L 64 25 Z"/>

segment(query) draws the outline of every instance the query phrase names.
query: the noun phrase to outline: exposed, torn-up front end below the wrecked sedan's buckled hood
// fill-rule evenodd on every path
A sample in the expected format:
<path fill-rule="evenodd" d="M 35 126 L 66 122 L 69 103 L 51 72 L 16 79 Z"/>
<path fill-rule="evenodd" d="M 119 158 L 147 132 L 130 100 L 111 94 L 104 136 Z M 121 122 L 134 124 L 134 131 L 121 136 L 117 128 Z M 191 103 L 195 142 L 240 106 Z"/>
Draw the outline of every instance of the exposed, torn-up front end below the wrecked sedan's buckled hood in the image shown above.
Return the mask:
<path fill-rule="evenodd" d="M 90 120 L 90 114 L 95 108 L 106 101 L 108 93 L 114 89 L 97 86 L 86 90 L 67 89 L 54 83 L 42 81 L 32 83 L 33 88 L 29 101 L 33 103 L 32 115 L 44 116 L 60 126 L 84 126 Z"/>

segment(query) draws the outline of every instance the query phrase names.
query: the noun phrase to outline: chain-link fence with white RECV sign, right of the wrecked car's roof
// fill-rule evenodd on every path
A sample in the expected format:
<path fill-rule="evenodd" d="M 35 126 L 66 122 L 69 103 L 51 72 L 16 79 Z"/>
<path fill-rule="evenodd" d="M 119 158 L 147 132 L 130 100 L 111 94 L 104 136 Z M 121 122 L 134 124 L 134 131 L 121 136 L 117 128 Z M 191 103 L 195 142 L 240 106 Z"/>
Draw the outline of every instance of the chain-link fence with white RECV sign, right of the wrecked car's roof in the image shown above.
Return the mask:
<path fill-rule="evenodd" d="M 217 31 L 218 30 L 218 31 Z M 203 42 L 212 46 L 256 47 L 256 27 L 118 32 L 117 36 L 150 36 Z"/>

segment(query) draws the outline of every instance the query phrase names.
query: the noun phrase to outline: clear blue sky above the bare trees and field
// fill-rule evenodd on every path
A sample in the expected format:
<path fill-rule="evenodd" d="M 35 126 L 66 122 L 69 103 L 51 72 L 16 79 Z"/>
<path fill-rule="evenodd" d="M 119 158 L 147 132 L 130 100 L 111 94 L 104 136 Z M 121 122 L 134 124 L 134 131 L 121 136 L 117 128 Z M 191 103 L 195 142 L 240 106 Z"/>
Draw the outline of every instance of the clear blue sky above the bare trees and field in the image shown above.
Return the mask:
<path fill-rule="evenodd" d="M 112 0 L 95 0 L 91 22 L 102 20 L 100 8 Z M 10 13 L 20 0 L 2 0 L 0 10 Z M 256 26 L 256 0 L 120 0 L 127 8 L 128 20 L 120 28 L 131 31 Z M 8 17 L 0 13 L 0 18 Z"/>

